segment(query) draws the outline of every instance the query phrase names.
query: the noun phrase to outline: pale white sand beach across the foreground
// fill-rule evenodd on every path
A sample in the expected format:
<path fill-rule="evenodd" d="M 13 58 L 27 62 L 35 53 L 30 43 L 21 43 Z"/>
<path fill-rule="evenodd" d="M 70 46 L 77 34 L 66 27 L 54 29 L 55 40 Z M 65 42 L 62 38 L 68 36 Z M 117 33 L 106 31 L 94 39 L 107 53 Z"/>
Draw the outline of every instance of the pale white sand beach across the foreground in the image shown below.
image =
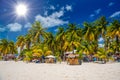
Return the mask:
<path fill-rule="evenodd" d="M 120 63 L 70 66 L 0 61 L 0 80 L 120 80 Z"/>

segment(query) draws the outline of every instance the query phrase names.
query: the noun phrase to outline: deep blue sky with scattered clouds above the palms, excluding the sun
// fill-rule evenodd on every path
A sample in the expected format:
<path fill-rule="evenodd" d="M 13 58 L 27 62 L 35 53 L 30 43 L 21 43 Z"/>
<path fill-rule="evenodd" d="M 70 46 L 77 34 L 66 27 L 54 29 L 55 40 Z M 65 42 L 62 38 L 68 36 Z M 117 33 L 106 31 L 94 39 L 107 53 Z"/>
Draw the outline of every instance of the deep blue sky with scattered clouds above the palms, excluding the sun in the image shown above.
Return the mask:
<path fill-rule="evenodd" d="M 25 17 L 15 13 L 16 5 L 27 5 Z M 100 16 L 120 19 L 120 0 L 0 0 L 0 39 L 16 41 L 27 33 L 34 21 L 50 32 L 68 23 L 92 22 Z"/>

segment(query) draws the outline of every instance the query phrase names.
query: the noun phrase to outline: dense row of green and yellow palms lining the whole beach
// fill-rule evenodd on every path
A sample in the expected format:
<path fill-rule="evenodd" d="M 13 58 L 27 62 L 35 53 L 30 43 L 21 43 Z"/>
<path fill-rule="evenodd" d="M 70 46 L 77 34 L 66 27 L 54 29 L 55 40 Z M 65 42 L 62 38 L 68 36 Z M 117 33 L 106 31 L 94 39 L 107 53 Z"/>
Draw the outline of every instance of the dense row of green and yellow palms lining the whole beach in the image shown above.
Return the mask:
<path fill-rule="evenodd" d="M 64 53 L 77 50 L 82 54 L 108 60 L 114 54 L 120 54 L 120 21 L 108 21 L 104 16 L 93 22 L 84 22 L 82 26 L 69 23 L 58 28 L 56 34 L 47 32 L 38 21 L 34 22 L 26 35 L 17 37 L 16 43 L 7 39 L 0 40 L 0 55 L 18 53 L 19 57 L 31 61 L 43 55 L 55 55 L 62 60 Z M 102 46 L 99 39 L 103 38 Z"/>

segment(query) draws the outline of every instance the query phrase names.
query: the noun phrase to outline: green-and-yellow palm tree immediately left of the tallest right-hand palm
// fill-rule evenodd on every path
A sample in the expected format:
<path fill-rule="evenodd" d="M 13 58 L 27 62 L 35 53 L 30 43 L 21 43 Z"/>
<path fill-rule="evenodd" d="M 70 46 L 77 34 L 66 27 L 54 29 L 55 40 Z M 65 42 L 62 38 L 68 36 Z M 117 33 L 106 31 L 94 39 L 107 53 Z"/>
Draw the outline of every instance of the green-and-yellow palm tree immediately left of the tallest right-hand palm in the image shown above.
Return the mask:
<path fill-rule="evenodd" d="M 97 52 L 98 49 L 98 29 L 96 27 L 96 25 L 94 23 L 88 23 L 85 22 L 84 24 L 84 28 L 83 28 L 83 38 L 84 40 L 87 41 L 87 43 L 89 45 L 93 45 L 94 44 L 94 53 Z"/>

